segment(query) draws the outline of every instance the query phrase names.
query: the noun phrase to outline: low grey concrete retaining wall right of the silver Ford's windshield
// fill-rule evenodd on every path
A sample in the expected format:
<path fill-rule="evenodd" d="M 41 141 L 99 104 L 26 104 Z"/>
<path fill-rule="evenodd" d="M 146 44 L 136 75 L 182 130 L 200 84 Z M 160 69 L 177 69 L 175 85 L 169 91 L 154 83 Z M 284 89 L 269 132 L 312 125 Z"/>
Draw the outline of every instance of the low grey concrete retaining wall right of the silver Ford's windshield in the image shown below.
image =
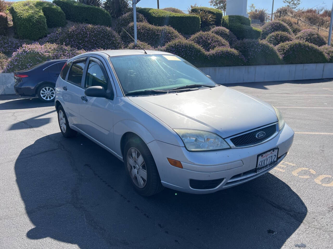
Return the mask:
<path fill-rule="evenodd" d="M 218 84 L 333 78 L 333 63 L 202 67 Z"/>

